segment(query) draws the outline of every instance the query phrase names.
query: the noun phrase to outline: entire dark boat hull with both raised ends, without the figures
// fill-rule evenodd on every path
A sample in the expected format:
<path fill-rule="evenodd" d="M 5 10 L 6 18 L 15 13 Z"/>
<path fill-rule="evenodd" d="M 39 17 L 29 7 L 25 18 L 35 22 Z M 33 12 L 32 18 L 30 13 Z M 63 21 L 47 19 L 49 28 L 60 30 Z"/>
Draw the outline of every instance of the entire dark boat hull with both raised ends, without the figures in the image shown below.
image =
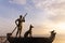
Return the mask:
<path fill-rule="evenodd" d="M 6 40 L 10 43 L 52 43 L 54 41 L 55 38 L 55 33 L 53 33 L 53 35 L 49 37 L 49 38 L 44 38 L 44 37 L 32 37 L 32 38 L 14 38 L 11 37 L 12 33 L 8 33 L 6 34 Z"/>

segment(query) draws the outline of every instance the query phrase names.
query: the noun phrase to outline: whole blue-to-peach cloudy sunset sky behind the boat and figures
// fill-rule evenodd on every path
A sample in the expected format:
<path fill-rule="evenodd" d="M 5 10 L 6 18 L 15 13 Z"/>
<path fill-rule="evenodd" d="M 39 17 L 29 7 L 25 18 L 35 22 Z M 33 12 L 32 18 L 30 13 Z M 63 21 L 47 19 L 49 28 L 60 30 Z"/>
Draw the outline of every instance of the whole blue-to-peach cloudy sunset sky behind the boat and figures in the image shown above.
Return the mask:
<path fill-rule="evenodd" d="M 34 35 L 65 34 L 65 0 L 0 0 L 0 35 L 12 32 L 15 19 L 25 15 L 23 32 L 34 25 Z"/>

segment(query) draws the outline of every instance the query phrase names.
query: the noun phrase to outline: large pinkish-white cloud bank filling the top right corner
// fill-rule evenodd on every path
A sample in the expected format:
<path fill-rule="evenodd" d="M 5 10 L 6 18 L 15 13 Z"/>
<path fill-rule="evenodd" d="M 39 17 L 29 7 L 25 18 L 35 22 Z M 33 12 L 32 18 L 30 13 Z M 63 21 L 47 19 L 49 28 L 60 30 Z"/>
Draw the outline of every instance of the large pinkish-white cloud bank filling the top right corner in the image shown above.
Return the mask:
<path fill-rule="evenodd" d="M 65 0 L 34 0 L 35 6 L 47 12 L 54 12 L 65 9 Z"/>

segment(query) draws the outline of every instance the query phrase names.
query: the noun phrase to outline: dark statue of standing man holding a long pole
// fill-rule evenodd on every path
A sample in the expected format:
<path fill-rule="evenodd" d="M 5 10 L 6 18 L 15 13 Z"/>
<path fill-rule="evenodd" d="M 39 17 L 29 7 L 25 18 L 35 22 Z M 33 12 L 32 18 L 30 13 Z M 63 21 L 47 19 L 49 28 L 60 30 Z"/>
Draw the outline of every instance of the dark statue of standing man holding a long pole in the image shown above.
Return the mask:
<path fill-rule="evenodd" d="M 27 14 L 26 14 L 26 15 L 27 15 Z M 26 15 L 25 15 L 25 16 L 26 16 Z M 25 16 L 20 15 L 20 18 L 17 18 L 17 19 L 15 20 L 15 24 L 16 24 L 16 26 L 17 26 L 16 37 L 17 37 L 17 34 L 20 34 L 20 37 L 21 37 L 21 32 L 22 32 L 22 28 L 23 28 L 23 23 L 25 23 Z"/>

